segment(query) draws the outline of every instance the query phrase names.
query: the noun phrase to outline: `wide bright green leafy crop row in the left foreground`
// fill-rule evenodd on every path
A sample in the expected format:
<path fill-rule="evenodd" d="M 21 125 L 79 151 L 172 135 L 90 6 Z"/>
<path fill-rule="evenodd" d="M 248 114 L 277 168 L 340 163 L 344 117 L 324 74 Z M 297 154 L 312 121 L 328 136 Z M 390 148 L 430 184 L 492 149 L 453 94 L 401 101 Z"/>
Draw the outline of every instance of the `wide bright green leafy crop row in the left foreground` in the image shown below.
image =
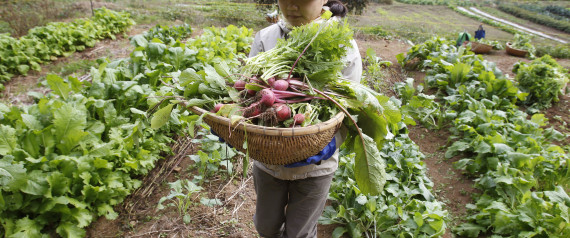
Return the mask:
<path fill-rule="evenodd" d="M 89 82 L 48 75 L 53 91 L 37 103 L 0 104 L 0 236 L 82 237 L 96 216 L 116 218 L 113 206 L 170 151 L 172 131 L 192 127 L 177 110 L 165 127 L 151 128 L 147 116 L 161 98 L 184 93 L 165 84 L 214 60 L 239 64 L 252 40 L 234 26 L 186 43 L 153 36 L 133 37 L 131 57 L 92 68 Z"/>

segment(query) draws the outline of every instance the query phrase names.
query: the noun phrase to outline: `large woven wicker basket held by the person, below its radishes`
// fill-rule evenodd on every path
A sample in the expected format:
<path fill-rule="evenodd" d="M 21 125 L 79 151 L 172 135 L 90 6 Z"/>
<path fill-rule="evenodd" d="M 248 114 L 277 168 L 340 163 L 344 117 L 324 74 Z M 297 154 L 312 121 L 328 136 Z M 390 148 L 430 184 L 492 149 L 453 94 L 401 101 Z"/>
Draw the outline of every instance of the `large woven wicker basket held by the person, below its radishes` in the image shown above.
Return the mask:
<path fill-rule="evenodd" d="M 192 112 L 206 113 L 202 108 L 189 107 Z M 285 165 L 302 161 L 319 153 L 334 137 L 342 124 L 344 113 L 339 113 L 326 122 L 298 128 L 264 127 L 240 123 L 230 126 L 230 119 L 207 114 L 204 122 L 220 138 L 241 152 L 246 153 L 243 143 L 247 134 L 249 156 L 272 165 Z"/>

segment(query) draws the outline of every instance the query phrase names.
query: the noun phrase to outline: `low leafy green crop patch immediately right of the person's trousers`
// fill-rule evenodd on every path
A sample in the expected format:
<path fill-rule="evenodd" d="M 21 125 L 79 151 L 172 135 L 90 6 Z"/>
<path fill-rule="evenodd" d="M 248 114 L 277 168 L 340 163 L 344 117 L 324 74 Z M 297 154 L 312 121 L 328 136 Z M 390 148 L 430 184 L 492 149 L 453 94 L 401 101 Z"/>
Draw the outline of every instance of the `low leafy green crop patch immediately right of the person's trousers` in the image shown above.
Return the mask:
<path fill-rule="evenodd" d="M 380 153 L 386 158 L 387 180 L 378 196 L 362 193 L 353 180 L 353 154 L 340 156 L 327 206 L 319 222 L 340 224 L 333 237 L 439 237 L 447 227 L 447 211 L 432 195 L 424 155 L 408 137 L 405 125 Z"/>

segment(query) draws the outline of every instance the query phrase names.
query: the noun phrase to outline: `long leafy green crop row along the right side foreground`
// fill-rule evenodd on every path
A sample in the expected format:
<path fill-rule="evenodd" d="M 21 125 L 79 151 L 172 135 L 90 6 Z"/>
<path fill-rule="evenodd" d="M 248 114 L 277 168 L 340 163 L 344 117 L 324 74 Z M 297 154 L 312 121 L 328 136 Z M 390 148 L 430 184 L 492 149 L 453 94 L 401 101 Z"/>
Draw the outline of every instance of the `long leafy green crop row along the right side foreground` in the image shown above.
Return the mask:
<path fill-rule="evenodd" d="M 462 155 L 454 166 L 477 176 L 475 187 L 482 191 L 475 204 L 467 205 L 472 214 L 467 222 L 453 231 L 467 237 L 568 237 L 570 160 L 552 144 L 565 136 L 545 129 L 542 114 L 528 119 L 516 106 L 528 93 L 481 56 L 434 38 L 398 60 L 410 66 L 416 58 L 441 103 L 423 98 L 438 104 L 440 118 L 451 123 L 455 142 L 446 157 Z M 416 107 L 423 105 L 428 104 Z"/>

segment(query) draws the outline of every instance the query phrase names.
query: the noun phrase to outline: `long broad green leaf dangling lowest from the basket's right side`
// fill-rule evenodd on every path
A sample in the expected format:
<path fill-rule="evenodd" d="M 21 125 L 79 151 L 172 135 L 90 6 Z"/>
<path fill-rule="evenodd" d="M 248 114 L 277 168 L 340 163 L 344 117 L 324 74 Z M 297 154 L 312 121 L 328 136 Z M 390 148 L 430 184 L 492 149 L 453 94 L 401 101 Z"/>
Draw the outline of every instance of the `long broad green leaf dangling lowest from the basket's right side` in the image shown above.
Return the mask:
<path fill-rule="evenodd" d="M 372 138 L 364 135 L 364 146 L 360 138 L 357 136 L 354 143 L 356 182 L 362 193 L 376 196 L 386 183 L 385 162 Z"/>

